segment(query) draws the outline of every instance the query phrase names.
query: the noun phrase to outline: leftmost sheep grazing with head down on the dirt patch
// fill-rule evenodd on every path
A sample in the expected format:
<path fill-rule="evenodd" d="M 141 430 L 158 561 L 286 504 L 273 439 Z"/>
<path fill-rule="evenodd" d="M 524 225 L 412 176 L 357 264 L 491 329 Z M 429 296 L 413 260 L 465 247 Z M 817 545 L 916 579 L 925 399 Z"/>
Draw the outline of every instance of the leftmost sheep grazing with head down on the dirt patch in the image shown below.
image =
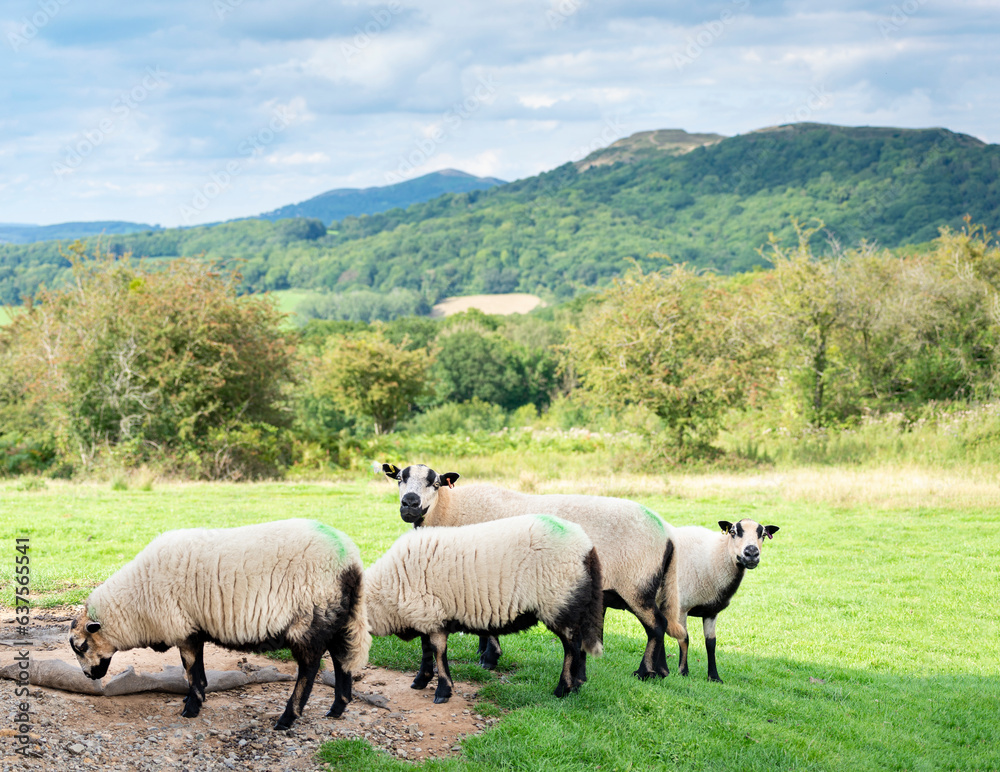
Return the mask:
<path fill-rule="evenodd" d="M 206 641 L 238 651 L 288 647 L 298 677 L 275 729 L 302 715 L 329 651 L 335 697 L 327 715 L 339 718 L 371 645 L 363 581 L 358 548 L 316 521 L 169 531 L 90 594 L 70 647 L 84 674 L 98 680 L 117 651 L 176 646 L 190 686 L 185 718 L 197 716 L 205 699 Z"/>

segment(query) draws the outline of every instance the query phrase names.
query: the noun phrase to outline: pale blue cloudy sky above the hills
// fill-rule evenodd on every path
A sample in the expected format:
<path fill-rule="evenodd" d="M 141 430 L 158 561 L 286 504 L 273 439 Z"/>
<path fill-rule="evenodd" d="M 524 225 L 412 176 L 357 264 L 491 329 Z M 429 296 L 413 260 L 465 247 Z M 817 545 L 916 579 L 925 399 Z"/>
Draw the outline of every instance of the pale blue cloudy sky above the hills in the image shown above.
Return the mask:
<path fill-rule="evenodd" d="M 0 222 L 164 227 L 638 131 L 1000 142 L 1000 2 L 4 0 Z"/>

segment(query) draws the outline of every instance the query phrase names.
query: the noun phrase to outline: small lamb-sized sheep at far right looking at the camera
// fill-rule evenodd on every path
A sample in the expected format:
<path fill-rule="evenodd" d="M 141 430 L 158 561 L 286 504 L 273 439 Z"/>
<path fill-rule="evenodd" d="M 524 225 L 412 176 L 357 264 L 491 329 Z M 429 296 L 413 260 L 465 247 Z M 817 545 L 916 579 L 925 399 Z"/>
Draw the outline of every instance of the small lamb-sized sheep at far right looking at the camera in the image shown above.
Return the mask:
<path fill-rule="evenodd" d="M 684 637 L 678 640 L 678 670 L 688 674 L 687 617 L 702 618 L 705 651 L 708 654 L 708 680 L 718 681 L 715 665 L 715 620 L 732 600 L 747 569 L 760 563 L 764 538 L 773 539 L 776 525 L 760 525 L 748 518 L 738 523 L 720 520 L 722 532 L 697 525 L 674 529 L 677 543 L 677 584 L 680 594 L 680 620 Z"/>

